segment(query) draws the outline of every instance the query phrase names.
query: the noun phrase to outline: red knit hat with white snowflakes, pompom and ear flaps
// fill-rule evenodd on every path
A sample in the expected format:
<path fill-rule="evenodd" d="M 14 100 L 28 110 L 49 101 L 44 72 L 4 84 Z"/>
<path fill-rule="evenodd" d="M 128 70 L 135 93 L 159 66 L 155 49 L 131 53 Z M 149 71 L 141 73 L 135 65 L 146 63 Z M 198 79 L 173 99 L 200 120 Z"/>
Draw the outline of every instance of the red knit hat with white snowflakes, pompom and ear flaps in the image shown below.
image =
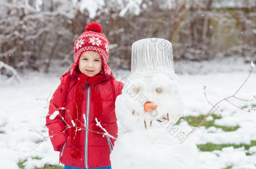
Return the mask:
<path fill-rule="evenodd" d="M 89 23 L 85 28 L 85 32 L 77 38 L 74 44 L 75 63 L 69 69 L 71 75 L 73 75 L 76 66 L 78 66 L 81 54 L 86 51 L 94 51 L 101 55 L 105 75 L 112 76 L 112 71 L 107 65 L 109 46 L 107 37 L 102 34 L 102 28 L 99 23 Z"/>

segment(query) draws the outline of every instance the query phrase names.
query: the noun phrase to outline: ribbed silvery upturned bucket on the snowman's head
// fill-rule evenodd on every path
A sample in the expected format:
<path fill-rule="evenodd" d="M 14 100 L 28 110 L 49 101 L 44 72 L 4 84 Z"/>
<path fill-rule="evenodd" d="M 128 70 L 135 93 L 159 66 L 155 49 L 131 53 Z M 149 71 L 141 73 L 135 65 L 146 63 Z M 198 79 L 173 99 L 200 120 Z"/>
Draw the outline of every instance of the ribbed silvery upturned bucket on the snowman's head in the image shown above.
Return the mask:
<path fill-rule="evenodd" d="M 133 43 L 131 76 L 148 73 L 166 74 L 177 78 L 174 71 L 172 43 L 161 38 L 146 38 Z"/>

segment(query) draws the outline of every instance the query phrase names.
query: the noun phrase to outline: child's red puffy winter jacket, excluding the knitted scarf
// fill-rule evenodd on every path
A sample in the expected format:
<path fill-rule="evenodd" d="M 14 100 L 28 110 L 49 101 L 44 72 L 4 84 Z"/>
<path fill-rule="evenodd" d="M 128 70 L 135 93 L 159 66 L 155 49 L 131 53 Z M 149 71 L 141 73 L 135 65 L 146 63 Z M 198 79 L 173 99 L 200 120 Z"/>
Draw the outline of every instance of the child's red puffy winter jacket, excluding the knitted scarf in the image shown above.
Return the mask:
<path fill-rule="evenodd" d="M 53 93 L 52 99 L 50 101 L 53 106 L 49 106 L 49 114 L 52 114 L 54 111 L 56 111 L 55 108 L 61 107 L 61 96 L 65 84 L 65 79 L 66 76 L 62 76 L 60 78 L 60 86 L 58 86 L 57 90 Z M 65 101 L 65 105 L 68 105 L 66 107 L 66 111 L 69 112 L 71 117 L 74 113 L 72 111 L 75 100 L 74 95 L 76 90 L 76 82 L 76 76 L 72 76 L 70 78 Z M 103 108 L 103 123 L 106 124 L 105 129 L 109 134 L 117 138 L 118 126 L 116 123 L 117 119 L 115 116 L 115 106 L 113 106 L 113 103 L 115 103 L 115 98 L 111 92 L 107 91 L 109 90 L 109 88 L 106 87 L 110 86 L 111 84 L 110 81 L 103 81 L 99 84 L 102 85 L 103 91 L 101 94 L 101 99 Z M 120 95 L 123 88 L 123 83 L 119 81 L 114 81 L 114 86 L 116 89 L 116 96 Z M 88 90 L 90 90 L 90 87 L 84 93 L 84 100 L 81 104 L 81 112 L 86 112 L 86 125 L 88 129 L 93 130 L 92 126 L 95 119 L 93 107 L 94 103 L 93 98 L 91 98 L 90 92 L 88 92 Z M 88 108 L 86 108 L 86 105 L 89 105 Z M 73 159 L 70 156 L 71 138 L 69 136 L 71 135 L 71 128 L 66 129 L 67 125 L 62 120 L 62 117 L 64 117 L 64 120 L 68 123 L 68 125 L 72 126 L 71 118 L 68 116 L 68 113 L 63 114 L 63 111 L 59 111 L 59 113 L 60 114 L 58 114 L 55 119 L 52 120 L 49 119 L 50 115 L 48 115 L 46 117 L 46 126 L 49 129 L 49 136 L 54 150 L 60 151 L 60 162 L 68 166 L 74 166 L 79 168 L 97 168 L 111 166 L 110 152 L 113 149 L 115 140 L 111 139 L 109 136 L 102 137 L 102 134 L 96 134 L 94 132 L 84 129 L 82 129 L 80 132 L 81 135 L 78 143 L 78 147 L 80 147 L 82 154 L 81 158 Z M 85 124 L 83 115 L 80 114 L 80 116 L 80 119 L 82 119 L 81 123 Z M 64 130 L 65 132 L 61 133 Z"/>

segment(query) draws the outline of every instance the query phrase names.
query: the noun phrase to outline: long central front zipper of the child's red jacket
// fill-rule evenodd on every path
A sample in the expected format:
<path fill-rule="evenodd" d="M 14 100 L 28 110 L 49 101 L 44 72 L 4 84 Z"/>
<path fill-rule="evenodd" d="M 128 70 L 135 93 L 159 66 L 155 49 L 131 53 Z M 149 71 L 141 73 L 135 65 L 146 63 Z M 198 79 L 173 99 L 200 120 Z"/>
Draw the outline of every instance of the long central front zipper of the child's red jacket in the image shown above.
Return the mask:
<path fill-rule="evenodd" d="M 87 98 L 86 98 L 86 129 L 89 129 L 89 111 L 90 111 L 90 91 L 91 86 L 87 88 Z M 88 166 L 88 130 L 85 130 L 84 138 L 84 166 L 86 169 Z"/>

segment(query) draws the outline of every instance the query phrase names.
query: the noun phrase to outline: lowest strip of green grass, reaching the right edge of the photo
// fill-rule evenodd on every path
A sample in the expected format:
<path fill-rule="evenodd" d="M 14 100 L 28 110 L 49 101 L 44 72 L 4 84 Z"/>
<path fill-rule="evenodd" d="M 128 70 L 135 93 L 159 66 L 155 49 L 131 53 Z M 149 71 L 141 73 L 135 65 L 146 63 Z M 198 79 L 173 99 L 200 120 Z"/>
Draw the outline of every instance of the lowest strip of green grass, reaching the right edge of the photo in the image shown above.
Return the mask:
<path fill-rule="evenodd" d="M 224 147 L 230 147 L 233 146 L 234 148 L 239 148 L 244 146 L 246 150 L 248 150 L 252 146 L 256 146 L 256 140 L 252 140 L 251 144 L 212 144 L 212 143 L 206 143 L 206 144 L 198 144 L 197 147 L 201 151 L 214 151 L 214 150 L 221 150 Z"/>

